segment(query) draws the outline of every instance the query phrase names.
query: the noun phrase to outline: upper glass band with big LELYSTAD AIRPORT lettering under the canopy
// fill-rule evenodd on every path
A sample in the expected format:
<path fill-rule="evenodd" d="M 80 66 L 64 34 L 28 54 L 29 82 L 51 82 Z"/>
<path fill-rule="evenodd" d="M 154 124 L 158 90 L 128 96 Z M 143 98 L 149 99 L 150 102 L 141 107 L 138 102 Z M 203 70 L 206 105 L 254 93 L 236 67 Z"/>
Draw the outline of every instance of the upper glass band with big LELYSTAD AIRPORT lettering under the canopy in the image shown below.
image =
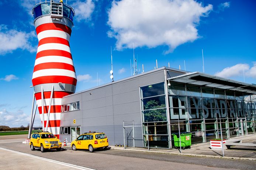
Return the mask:
<path fill-rule="evenodd" d="M 171 120 L 249 118 L 256 113 L 249 94 L 179 83 L 172 83 L 168 91 Z"/>

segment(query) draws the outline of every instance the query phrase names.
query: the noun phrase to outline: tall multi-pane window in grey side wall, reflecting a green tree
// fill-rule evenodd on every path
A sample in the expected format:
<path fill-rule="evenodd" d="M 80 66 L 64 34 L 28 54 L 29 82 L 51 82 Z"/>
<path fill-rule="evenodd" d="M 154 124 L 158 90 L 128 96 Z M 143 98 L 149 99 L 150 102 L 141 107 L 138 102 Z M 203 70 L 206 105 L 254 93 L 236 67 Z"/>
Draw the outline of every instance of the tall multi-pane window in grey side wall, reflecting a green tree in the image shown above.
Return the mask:
<path fill-rule="evenodd" d="M 141 87 L 144 146 L 168 148 L 165 83 Z"/>

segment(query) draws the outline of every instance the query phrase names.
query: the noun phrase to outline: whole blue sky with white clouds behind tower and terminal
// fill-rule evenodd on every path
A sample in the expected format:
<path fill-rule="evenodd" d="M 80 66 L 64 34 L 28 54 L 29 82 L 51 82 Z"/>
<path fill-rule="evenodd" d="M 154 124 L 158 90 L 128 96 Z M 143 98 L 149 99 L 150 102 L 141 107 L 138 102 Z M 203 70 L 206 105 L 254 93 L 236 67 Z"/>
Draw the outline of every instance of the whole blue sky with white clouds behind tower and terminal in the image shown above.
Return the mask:
<path fill-rule="evenodd" d="M 65 0 L 64 0 L 65 1 Z M 39 0 L 38 0 L 39 2 Z M 75 9 L 70 48 L 76 91 L 131 76 L 132 46 L 138 68 L 170 66 L 256 83 L 255 1 L 68 0 Z M 1 0 L 0 125 L 27 126 L 37 36 L 35 0 Z M 11 10 L 10 10 L 11 9 Z M 10 13 L 13 11 L 13 13 Z M 133 62 L 133 61 L 132 61 Z M 98 81 L 97 81 L 98 73 Z M 40 126 L 37 114 L 34 126 Z"/>

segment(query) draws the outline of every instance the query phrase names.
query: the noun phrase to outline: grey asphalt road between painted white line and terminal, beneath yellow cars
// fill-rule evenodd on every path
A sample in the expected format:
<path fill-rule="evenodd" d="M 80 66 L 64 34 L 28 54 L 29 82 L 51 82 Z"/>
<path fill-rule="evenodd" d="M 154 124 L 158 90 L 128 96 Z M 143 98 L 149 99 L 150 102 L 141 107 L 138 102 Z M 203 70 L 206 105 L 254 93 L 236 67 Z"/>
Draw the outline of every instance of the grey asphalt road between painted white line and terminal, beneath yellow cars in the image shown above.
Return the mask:
<path fill-rule="evenodd" d="M 50 150 L 41 153 L 39 150 L 31 151 L 28 145 L 21 142 L 10 143 L 0 141 L 1 148 L 8 148 L 32 155 L 41 156 L 60 162 L 89 167 L 92 169 L 189 169 L 189 170 L 221 170 L 228 169 L 256 169 L 253 160 L 232 160 L 225 158 L 207 158 L 183 155 L 171 155 L 163 153 L 122 151 L 108 149 L 90 153 L 85 150 L 72 151 L 70 147 L 57 152 Z M 1 149 L 0 149 L 1 150 Z M 1 151 L 0 151 L 1 152 Z M 1 164 L 1 160 L 0 160 Z M 1 168 L 0 168 L 1 169 Z"/>

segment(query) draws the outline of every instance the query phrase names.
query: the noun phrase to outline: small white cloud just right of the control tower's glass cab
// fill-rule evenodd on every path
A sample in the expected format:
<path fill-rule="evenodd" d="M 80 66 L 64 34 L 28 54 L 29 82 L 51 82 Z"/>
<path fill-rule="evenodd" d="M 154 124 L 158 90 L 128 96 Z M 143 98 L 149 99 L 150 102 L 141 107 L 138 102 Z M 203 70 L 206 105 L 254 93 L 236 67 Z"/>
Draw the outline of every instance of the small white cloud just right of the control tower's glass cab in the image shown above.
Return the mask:
<path fill-rule="evenodd" d="M 88 21 L 94 11 L 95 4 L 92 0 L 76 1 L 71 5 L 75 10 L 75 19 L 77 21 Z"/>

